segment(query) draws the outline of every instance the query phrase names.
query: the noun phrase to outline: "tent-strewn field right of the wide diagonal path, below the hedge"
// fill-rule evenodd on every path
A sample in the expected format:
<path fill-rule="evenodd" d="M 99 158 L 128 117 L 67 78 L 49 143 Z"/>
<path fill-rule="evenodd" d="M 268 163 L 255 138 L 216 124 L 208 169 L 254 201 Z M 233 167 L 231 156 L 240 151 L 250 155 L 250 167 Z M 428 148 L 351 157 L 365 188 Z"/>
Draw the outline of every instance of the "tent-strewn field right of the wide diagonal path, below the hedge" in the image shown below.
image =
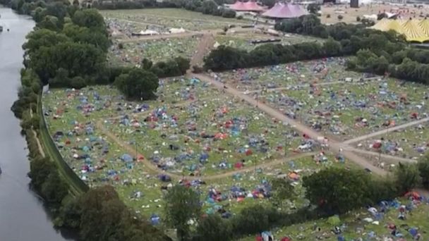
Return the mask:
<path fill-rule="evenodd" d="M 344 70 L 344 59 L 234 70 L 217 78 L 315 130 L 342 140 L 425 117 L 421 85 Z M 344 84 L 347 87 L 344 87 Z"/>

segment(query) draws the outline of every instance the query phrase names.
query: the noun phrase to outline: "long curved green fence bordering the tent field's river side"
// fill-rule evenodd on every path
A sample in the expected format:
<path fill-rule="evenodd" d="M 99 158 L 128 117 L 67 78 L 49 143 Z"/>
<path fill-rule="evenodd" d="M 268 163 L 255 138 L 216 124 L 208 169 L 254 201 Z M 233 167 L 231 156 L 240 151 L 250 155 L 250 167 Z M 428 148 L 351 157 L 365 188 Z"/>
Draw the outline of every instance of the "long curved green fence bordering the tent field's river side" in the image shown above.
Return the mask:
<path fill-rule="evenodd" d="M 59 173 L 63 176 L 66 182 L 70 185 L 70 190 L 73 194 L 82 194 L 87 192 L 90 189 L 86 183 L 81 180 L 78 175 L 68 166 L 66 161 L 64 161 L 63 156 L 59 153 L 59 150 L 56 148 L 54 140 L 52 140 L 47 124 L 44 118 L 43 109 L 42 109 L 42 96 L 39 94 L 37 99 L 37 114 L 40 115 L 40 142 L 44 147 L 44 152 L 49 156 L 55 163 L 58 164 Z"/>

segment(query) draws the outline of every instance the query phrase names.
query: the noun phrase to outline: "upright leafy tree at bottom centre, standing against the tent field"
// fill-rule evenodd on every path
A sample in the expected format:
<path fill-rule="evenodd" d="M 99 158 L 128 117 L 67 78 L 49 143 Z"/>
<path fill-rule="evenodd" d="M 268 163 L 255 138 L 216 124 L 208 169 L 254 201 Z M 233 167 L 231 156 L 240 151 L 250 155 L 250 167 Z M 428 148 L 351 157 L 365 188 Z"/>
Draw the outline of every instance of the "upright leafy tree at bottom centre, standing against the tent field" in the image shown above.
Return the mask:
<path fill-rule="evenodd" d="M 190 234 L 188 221 L 200 216 L 200 197 L 189 187 L 175 185 L 165 195 L 164 202 L 167 224 L 176 228 L 179 240 L 186 240 Z"/>

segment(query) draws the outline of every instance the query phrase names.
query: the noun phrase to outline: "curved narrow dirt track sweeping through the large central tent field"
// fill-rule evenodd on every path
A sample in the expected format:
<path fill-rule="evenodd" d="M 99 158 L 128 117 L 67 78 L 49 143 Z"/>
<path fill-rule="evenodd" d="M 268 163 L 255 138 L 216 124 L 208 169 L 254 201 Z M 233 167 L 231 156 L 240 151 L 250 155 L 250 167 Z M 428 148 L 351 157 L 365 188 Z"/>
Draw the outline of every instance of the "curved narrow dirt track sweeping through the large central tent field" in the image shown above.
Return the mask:
<path fill-rule="evenodd" d="M 129 152 L 132 156 L 144 156 L 143 154 L 140 154 L 139 152 L 135 152 L 135 147 L 131 146 L 130 144 L 127 144 L 126 142 L 124 142 L 123 140 L 120 140 L 119 137 L 116 137 L 116 135 L 114 135 L 112 132 L 109 132 L 108 130 L 106 130 L 106 128 L 104 128 L 104 125 L 102 123 L 102 121 L 97 121 L 95 123 L 95 125 L 97 126 L 97 128 L 99 130 L 101 130 L 104 135 L 107 135 L 107 137 L 109 137 L 109 139 L 113 140 L 114 142 L 116 142 L 116 144 L 118 144 L 120 147 L 122 147 L 123 149 L 126 149 L 127 152 Z M 136 156 L 137 154 L 137 156 Z M 270 162 L 266 162 L 266 163 L 260 163 L 258 165 L 253 165 L 253 166 L 248 166 L 246 168 L 241 168 L 235 171 L 229 171 L 226 173 L 220 173 L 217 175 L 207 175 L 207 176 L 188 176 L 188 175 L 184 175 L 184 174 L 177 174 L 177 173 L 171 173 L 171 172 L 166 172 L 166 171 L 162 171 L 161 169 L 157 168 L 157 166 L 155 166 L 151 161 L 147 160 L 147 159 L 143 159 L 141 160 L 141 162 L 143 162 L 145 164 L 145 166 L 147 168 L 150 169 L 150 171 L 152 173 L 165 173 L 171 176 L 171 178 L 175 178 L 175 179 L 182 179 L 182 178 L 186 178 L 188 180 L 198 180 L 198 179 L 203 179 L 203 180 L 216 180 L 216 179 L 222 179 L 222 178 L 228 178 L 231 175 L 234 175 L 236 173 L 245 173 L 247 171 L 252 171 L 255 170 L 256 168 L 267 168 L 270 166 L 277 166 L 281 163 L 283 163 L 284 161 L 291 161 L 294 159 L 301 159 L 303 157 L 306 156 L 313 156 L 315 154 L 315 152 L 306 152 L 303 154 L 296 154 L 296 155 L 292 155 L 292 156 L 287 156 L 286 158 L 283 159 L 276 159 Z"/>

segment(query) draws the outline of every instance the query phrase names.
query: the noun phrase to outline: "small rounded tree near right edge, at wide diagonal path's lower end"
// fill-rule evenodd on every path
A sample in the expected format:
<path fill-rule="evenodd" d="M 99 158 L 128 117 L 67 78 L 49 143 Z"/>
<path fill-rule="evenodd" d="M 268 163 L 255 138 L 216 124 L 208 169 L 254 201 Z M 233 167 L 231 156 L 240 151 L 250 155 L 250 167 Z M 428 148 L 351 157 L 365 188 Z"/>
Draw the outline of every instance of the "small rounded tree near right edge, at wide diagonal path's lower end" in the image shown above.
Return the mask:
<path fill-rule="evenodd" d="M 418 166 L 411 163 L 399 163 L 394 171 L 396 186 L 399 192 L 408 192 L 421 183 Z"/>

